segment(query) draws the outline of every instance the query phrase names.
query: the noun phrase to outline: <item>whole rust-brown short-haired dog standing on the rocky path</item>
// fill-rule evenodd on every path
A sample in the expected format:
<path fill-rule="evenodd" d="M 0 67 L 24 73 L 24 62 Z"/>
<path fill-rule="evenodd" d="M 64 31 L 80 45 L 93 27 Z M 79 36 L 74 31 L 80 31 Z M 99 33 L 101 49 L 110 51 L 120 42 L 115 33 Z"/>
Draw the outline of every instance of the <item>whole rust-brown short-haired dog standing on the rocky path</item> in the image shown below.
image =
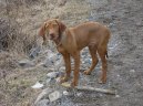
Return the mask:
<path fill-rule="evenodd" d="M 48 35 L 47 35 L 48 32 Z M 45 42 L 50 39 L 55 42 L 58 51 L 63 55 L 65 63 L 65 76 L 61 78 L 61 83 L 69 80 L 71 74 L 71 60 L 74 59 L 74 72 L 71 86 L 78 85 L 80 71 L 80 51 L 88 46 L 92 64 L 84 74 L 90 74 L 98 64 L 98 54 L 102 62 L 102 76 L 100 83 L 106 82 L 106 57 L 108 43 L 110 39 L 110 30 L 98 22 L 85 22 L 74 28 L 67 28 L 61 21 L 57 19 L 49 20 L 40 29 L 40 35 Z M 98 53 L 98 54 L 96 54 Z"/>

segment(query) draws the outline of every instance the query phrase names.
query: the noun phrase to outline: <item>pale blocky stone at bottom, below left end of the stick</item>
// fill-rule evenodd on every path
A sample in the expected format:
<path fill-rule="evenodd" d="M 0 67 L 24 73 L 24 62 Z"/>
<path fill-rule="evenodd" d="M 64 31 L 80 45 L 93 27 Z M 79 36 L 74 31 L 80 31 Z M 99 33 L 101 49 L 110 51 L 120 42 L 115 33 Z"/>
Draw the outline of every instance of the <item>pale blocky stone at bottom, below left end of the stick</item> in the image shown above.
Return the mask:
<path fill-rule="evenodd" d="M 55 91 L 49 95 L 50 102 L 54 102 L 62 97 L 62 94 L 59 91 Z"/>

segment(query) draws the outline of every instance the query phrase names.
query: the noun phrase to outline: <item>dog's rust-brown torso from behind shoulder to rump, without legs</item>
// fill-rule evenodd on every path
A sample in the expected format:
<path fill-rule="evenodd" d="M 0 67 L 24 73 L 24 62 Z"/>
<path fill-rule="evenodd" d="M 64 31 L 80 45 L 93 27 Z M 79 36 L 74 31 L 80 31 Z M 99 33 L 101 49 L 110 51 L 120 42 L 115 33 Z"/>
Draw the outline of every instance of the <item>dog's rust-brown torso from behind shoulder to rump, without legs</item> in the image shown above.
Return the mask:
<path fill-rule="evenodd" d="M 110 39 L 110 30 L 98 22 L 85 22 L 70 30 L 74 33 L 80 50 L 92 43 L 106 46 Z"/>

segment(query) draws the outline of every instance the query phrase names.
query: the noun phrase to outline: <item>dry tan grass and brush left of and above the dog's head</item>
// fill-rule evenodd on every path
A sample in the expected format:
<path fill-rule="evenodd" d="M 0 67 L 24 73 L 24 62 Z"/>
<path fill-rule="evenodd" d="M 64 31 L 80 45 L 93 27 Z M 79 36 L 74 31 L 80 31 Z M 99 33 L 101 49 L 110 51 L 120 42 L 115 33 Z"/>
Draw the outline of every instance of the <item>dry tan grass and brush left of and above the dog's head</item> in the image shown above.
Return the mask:
<path fill-rule="evenodd" d="M 41 44 L 38 38 L 41 23 L 50 18 L 60 18 L 65 23 L 70 21 L 68 25 L 73 25 L 78 20 L 85 21 L 88 7 L 84 3 L 79 6 L 81 0 L 65 1 L 0 0 L 1 106 L 31 106 L 37 98 L 39 91 L 30 86 L 43 78 L 47 71 L 23 71 L 19 68 L 18 61 L 28 57 L 30 50 Z M 81 10 L 82 7 L 84 10 Z"/>

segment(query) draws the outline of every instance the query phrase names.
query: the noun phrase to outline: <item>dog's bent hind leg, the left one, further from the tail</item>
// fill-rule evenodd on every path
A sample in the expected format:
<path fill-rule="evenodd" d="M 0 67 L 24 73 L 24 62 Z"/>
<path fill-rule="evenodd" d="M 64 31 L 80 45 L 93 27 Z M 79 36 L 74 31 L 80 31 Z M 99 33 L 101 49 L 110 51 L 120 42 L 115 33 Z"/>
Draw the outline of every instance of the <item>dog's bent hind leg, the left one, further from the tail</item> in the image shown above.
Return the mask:
<path fill-rule="evenodd" d="M 95 65 L 98 64 L 98 55 L 96 55 L 96 46 L 95 45 L 89 45 L 89 51 L 92 57 L 92 64 L 89 70 L 84 71 L 85 75 L 91 74 L 91 72 L 94 70 Z"/>

